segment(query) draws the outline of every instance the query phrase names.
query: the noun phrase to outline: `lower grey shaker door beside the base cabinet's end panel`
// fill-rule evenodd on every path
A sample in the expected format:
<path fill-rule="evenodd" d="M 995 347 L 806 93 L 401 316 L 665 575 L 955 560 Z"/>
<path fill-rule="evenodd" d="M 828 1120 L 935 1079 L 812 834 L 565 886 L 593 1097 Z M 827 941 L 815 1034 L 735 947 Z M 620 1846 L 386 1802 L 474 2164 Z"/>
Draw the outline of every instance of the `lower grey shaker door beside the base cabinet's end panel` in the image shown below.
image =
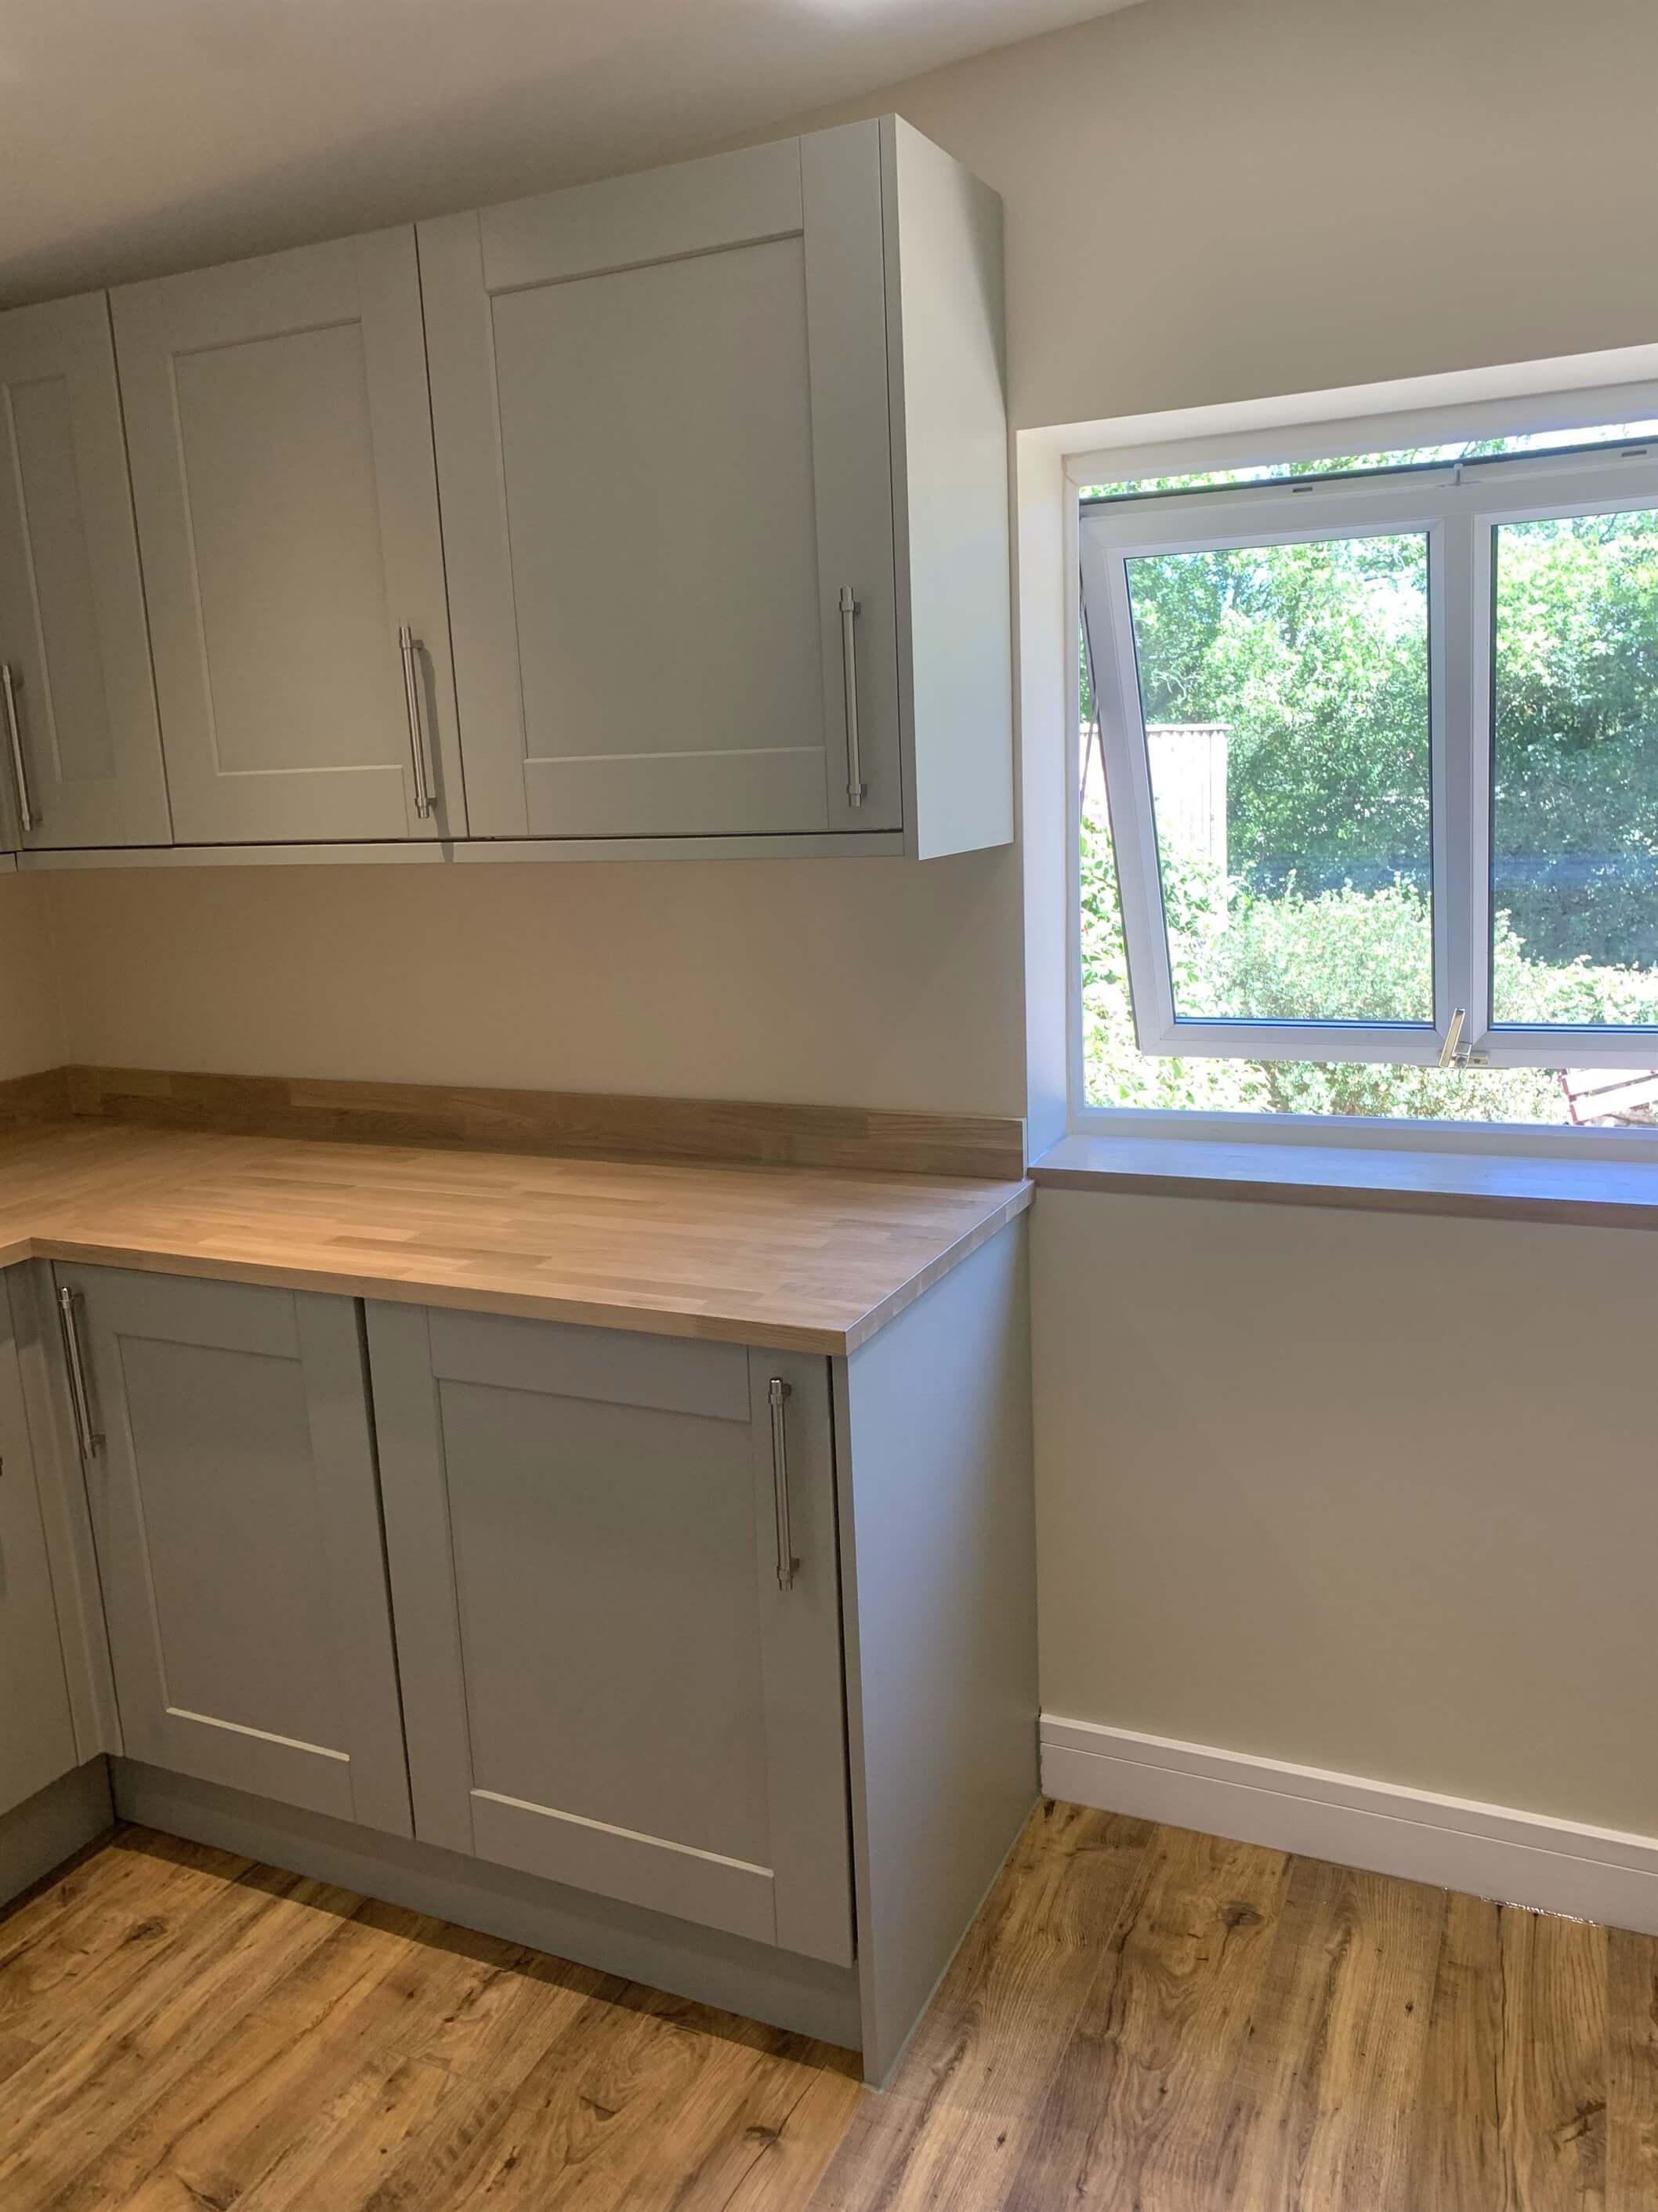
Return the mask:
<path fill-rule="evenodd" d="M 849 1962 L 827 1363 L 380 1303 L 369 1356 L 416 1834 Z"/>

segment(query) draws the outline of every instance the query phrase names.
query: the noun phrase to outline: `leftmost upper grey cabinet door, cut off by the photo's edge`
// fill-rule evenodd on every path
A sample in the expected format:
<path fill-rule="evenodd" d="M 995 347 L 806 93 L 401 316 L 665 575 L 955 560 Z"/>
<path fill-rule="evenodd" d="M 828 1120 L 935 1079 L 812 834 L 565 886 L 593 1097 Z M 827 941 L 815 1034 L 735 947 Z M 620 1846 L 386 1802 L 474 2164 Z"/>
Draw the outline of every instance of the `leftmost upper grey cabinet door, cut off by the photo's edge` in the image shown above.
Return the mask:
<path fill-rule="evenodd" d="M 166 845 L 108 303 L 0 316 L 0 790 L 24 847 Z M 22 816 L 29 816 L 24 823 Z"/>

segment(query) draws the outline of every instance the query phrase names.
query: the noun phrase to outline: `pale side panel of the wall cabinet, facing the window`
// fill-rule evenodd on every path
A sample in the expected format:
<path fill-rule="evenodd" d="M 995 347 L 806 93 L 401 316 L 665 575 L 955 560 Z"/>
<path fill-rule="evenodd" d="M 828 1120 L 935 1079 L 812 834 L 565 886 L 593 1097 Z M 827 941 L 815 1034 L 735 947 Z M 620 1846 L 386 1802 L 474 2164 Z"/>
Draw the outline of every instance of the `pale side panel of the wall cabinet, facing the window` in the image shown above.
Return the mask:
<path fill-rule="evenodd" d="M 1012 838 L 1001 201 L 882 124 L 900 655 L 922 858 Z"/>

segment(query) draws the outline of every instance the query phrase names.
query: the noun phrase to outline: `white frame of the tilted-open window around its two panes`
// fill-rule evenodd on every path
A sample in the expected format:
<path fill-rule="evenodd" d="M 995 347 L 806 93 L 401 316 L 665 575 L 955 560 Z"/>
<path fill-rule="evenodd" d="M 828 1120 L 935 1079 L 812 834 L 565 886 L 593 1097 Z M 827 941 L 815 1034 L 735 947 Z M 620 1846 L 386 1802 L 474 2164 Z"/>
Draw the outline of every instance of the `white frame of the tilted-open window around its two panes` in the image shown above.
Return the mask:
<path fill-rule="evenodd" d="M 1643 416 L 1603 416 L 1603 420 Z M 1649 418 L 1649 416 L 1647 416 Z M 1459 425 L 1461 427 L 1461 425 Z M 1430 442 L 1424 438 L 1395 442 Z M 1326 434 L 1329 438 L 1329 434 Z M 1364 447 L 1346 447 L 1349 451 Z M 1335 447 L 1340 451 L 1340 447 Z M 1375 451 L 1375 447 L 1371 447 Z M 1116 847 L 1130 989 L 1141 1051 L 1234 1060 L 1430 1064 L 1455 1051 L 1481 1066 L 1658 1066 L 1658 1024 L 1494 1024 L 1490 1006 L 1490 655 L 1492 533 L 1505 522 L 1658 507 L 1658 445 L 1594 453 L 1468 460 L 1368 482 L 1295 478 L 1225 491 L 1094 504 L 1077 515 L 1105 787 Z M 1216 462 L 1158 456 L 1189 473 Z M 1072 480 L 1077 478 L 1072 465 Z M 1096 480 L 1121 482 L 1119 465 Z M 1150 757 L 1134 666 L 1127 562 L 1318 538 L 1421 533 L 1428 540 L 1428 695 L 1433 803 L 1433 1022 L 1258 1022 L 1176 1015 L 1152 814 Z M 1077 573 L 1077 571 L 1072 571 Z M 1074 666 L 1074 664 L 1072 664 Z M 1074 726 L 1074 721 L 1072 721 Z M 1072 794 L 1077 785 L 1072 774 Z M 1072 796 L 1074 807 L 1074 796 Z M 1072 830 L 1079 823 L 1072 821 Z M 1072 836 L 1072 852 L 1077 841 Z M 1072 898 L 1072 1097 L 1088 1119 L 1081 1066 L 1081 911 Z M 1452 1015 L 1461 1011 L 1452 1040 Z M 1634 1060 L 1631 1060 L 1634 1055 Z M 1183 1117 L 1185 1119 L 1185 1117 Z M 1300 1117 L 1298 1117 L 1300 1119 Z"/>

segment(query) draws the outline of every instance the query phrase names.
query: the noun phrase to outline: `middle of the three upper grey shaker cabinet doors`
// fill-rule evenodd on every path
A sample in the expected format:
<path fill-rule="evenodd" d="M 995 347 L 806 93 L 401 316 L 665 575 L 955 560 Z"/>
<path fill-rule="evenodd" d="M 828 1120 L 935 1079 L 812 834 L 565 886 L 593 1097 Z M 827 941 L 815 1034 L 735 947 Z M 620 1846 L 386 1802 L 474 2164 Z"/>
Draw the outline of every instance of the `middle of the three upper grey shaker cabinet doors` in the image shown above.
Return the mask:
<path fill-rule="evenodd" d="M 177 841 L 462 834 L 413 232 L 113 305 Z"/>

